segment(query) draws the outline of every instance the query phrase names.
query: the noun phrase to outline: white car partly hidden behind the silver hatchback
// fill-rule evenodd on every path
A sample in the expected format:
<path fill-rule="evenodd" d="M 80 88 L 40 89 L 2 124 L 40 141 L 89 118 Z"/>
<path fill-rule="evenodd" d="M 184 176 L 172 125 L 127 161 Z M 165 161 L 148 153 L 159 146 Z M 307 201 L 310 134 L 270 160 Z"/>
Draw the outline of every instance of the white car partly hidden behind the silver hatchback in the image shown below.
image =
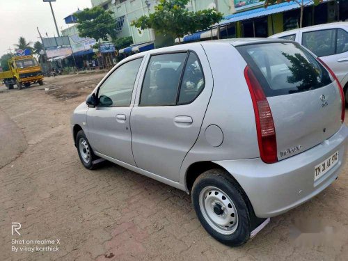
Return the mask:
<path fill-rule="evenodd" d="M 348 100 L 348 22 L 319 24 L 271 35 L 299 42 L 335 72 Z"/>

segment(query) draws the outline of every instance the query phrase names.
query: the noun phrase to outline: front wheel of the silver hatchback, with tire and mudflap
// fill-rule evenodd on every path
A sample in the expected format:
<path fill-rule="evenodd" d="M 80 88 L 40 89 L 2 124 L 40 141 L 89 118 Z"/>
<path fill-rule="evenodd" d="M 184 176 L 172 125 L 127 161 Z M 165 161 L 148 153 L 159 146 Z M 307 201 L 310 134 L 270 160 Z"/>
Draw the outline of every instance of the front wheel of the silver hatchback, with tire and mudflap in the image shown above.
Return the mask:
<path fill-rule="evenodd" d="M 79 154 L 79 158 L 84 167 L 90 170 L 97 168 L 98 164 L 93 163 L 93 161 L 100 159 L 100 157 L 97 157 L 94 154 L 83 130 L 77 132 L 76 145 L 77 153 Z"/>

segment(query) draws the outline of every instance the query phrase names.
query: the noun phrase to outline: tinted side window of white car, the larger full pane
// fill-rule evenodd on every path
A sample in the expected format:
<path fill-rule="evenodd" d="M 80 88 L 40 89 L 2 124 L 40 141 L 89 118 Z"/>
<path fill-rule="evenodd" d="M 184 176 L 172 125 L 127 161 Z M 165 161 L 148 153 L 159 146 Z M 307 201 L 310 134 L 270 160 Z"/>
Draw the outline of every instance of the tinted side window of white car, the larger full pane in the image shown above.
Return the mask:
<path fill-rule="evenodd" d="M 302 34 L 302 45 L 315 55 L 329 56 L 335 54 L 336 29 L 312 31 Z"/>

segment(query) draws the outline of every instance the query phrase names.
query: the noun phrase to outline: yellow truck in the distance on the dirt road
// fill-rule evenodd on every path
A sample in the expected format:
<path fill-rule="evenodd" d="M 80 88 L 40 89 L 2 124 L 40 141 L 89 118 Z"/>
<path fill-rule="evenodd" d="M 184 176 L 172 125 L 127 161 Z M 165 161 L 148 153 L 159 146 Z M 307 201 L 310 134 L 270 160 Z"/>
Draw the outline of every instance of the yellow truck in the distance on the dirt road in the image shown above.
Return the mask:
<path fill-rule="evenodd" d="M 8 89 L 16 84 L 19 90 L 31 84 L 43 84 L 41 66 L 32 55 L 13 56 L 8 60 L 8 71 L 0 72 L 0 80 Z"/>

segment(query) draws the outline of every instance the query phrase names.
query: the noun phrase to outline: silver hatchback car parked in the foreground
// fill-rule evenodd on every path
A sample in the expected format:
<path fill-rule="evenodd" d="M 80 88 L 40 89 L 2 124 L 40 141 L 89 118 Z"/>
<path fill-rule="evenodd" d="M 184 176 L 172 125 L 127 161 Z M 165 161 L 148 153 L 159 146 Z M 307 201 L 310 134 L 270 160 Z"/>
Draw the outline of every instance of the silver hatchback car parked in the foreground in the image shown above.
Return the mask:
<path fill-rule="evenodd" d="M 340 83 L 314 54 L 241 39 L 129 56 L 71 127 L 86 168 L 106 159 L 191 193 L 207 232 L 238 246 L 338 177 L 344 118 Z"/>

